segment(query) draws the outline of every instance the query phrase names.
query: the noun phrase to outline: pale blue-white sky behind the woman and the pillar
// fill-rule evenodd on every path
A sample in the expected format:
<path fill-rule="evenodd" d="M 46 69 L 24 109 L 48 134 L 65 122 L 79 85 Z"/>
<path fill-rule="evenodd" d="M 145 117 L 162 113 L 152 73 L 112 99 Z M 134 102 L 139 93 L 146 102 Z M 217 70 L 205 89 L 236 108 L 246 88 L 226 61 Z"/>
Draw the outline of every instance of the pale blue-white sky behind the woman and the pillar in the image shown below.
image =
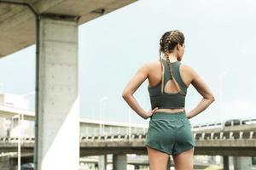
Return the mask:
<path fill-rule="evenodd" d="M 190 122 L 256 118 L 255 8 L 253 0 L 140 0 L 79 26 L 80 116 L 147 123 L 129 109 L 122 90 L 141 65 L 159 59 L 162 34 L 179 30 L 186 44 L 181 62 L 198 72 L 216 99 Z M 148 111 L 147 86 L 143 82 L 134 95 Z M 0 93 L 34 88 L 35 45 L 0 59 Z M 190 85 L 185 110 L 201 99 Z"/>

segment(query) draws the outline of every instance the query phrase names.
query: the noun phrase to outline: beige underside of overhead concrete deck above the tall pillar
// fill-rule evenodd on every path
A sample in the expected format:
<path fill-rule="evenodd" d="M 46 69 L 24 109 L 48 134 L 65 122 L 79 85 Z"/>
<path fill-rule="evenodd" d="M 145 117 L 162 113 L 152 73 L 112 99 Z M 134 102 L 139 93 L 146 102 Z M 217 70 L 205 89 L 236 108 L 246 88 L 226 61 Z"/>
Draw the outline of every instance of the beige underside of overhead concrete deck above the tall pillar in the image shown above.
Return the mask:
<path fill-rule="evenodd" d="M 64 18 L 67 16 L 80 17 L 78 24 L 82 25 L 136 1 L 0 0 L 0 32 L 2 32 L 0 34 L 0 58 L 35 43 L 35 19 L 31 10 L 27 8 L 26 3 L 30 4 L 38 14 L 55 14 Z M 18 3 L 24 5 L 17 5 Z"/>

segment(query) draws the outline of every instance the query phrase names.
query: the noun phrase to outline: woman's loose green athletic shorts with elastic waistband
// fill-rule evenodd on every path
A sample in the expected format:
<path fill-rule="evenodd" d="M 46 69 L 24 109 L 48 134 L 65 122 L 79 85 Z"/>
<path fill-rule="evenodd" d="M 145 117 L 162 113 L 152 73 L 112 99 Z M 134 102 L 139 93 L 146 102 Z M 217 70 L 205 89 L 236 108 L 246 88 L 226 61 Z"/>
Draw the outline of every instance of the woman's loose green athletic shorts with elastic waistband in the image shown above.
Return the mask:
<path fill-rule="evenodd" d="M 185 111 L 155 112 L 150 116 L 146 146 L 172 156 L 192 149 L 195 139 Z"/>

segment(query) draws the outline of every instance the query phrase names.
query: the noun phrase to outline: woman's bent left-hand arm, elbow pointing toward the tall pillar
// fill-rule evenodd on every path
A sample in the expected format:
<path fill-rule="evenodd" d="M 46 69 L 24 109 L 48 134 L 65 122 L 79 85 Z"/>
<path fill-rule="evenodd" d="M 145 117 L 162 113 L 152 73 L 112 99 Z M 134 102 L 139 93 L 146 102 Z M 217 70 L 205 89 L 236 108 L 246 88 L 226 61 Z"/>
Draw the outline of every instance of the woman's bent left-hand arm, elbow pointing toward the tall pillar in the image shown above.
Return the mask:
<path fill-rule="evenodd" d="M 137 100 L 134 98 L 133 94 L 140 87 L 140 85 L 147 79 L 148 77 L 148 66 L 144 64 L 135 74 L 134 77 L 131 78 L 130 82 L 126 85 L 123 90 L 122 96 L 125 99 L 126 103 L 130 105 L 131 109 L 135 111 L 139 116 L 142 116 L 143 119 L 147 119 L 151 116 L 154 111 L 158 108 L 154 108 L 153 111 L 144 111 L 143 108 L 137 103 Z"/>

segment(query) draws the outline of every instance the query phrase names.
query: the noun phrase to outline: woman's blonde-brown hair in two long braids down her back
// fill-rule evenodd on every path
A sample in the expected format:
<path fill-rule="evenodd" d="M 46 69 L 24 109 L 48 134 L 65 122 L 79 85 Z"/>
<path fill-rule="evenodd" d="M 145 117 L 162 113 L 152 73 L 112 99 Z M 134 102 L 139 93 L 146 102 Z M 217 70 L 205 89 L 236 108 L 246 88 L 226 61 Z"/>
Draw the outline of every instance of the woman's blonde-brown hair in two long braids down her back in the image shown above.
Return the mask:
<path fill-rule="evenodd" d="M 178 30 L 174 30 L 174 31 L 166 31 L 166 33 L 164 33 L 162 35 L 162 37 L 160 38 L 160 62 L 161 62 L 161 69 L 163 70 L 163 63 L 162 63 L 162 59 L 161 59 L 161 53 L 164 54 L 164 56 L 166 56 L 167 59 L 167 65 L 169 66 L 169 70 L 170 70 L 170 76 L 171 76 L 171 80 L 174 79 L 174 84 L 176 85 L 176 87 L 178 89 L 180 89 L 179 93 L 182 95 L 185 95 L 183 93 L 183 91 L 181 90 L 181 88 L 179 87 L 179 85 L 177 84 L 175 77 L 173 77 L 173 73 L 172 73 L 172 65 L 168 56 L 168 53 L 172 53 L 174 48 L 177 46 L 177 44 L 183 45 L 184 43 L 184 36 L 183 33 L 181 31 Z M 164 88 L 164 72 L 162 71 L 162 86 L 161 86 L 161 93 L 163 94 L 163 88 Z"/>

